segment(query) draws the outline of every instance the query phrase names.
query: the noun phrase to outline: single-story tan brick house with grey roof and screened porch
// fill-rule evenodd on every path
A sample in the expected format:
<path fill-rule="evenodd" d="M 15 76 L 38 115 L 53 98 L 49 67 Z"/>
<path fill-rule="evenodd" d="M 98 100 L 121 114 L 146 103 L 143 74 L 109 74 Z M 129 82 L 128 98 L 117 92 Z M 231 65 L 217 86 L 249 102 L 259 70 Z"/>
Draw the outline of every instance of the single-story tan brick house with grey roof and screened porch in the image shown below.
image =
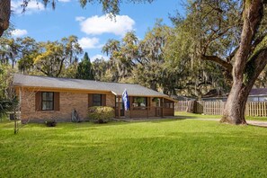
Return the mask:
<path fill-rule="evenodd" d="M 21 103 L 22 122 L 71 120 L 74 109 L 81 120 L 88 120 L 90 106 L 110 106 L 116 118 L 174 116 L 174 99 L 141 85 L 15 74 L 13 86 Z M 124 111 L 121 100 L 125 89 L 129 111 Z"/>

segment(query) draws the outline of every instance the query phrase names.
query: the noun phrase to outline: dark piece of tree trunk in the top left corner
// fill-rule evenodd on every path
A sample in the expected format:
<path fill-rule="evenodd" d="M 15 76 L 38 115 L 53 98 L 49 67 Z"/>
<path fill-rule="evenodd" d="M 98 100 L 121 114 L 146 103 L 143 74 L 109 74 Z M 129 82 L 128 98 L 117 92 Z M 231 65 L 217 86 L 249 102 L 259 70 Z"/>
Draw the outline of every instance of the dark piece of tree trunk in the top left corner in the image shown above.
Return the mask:
<path fill-rule="evenodd" d="M 11 13 L 10 1 L 11 0 L 0 1 L 0 37 L 9 27 L 9 19 Z"/>

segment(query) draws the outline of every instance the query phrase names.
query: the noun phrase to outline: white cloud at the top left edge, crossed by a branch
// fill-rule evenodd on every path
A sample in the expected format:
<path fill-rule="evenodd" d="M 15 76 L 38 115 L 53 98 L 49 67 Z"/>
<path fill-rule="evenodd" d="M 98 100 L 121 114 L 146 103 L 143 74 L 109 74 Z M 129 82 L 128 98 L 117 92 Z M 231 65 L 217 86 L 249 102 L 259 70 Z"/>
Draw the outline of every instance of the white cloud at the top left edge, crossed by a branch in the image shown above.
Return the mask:
<path fill-rule="evenodd" d="M 12 0 L 11 1 L 11 10 L 13 13 L 22 13 L 22 0 Z M 38 3 L 36 0 L 32 0 L 29 2 L 29 4 L 26 7 L 25 13 L 35 13 L 39 11 L 45 10 L 45 7 L 43 4 Z"/>

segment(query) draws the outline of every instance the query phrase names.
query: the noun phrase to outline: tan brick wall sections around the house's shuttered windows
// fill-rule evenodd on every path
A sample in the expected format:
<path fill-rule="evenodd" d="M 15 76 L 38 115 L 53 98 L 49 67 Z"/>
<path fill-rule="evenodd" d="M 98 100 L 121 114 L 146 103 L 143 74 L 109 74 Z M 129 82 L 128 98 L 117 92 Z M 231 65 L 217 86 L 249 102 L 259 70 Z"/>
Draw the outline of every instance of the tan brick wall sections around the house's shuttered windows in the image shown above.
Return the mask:
<path fill-rule="evenodd" d="M 57 121 L 70 121 L 71 112 L 76 109 L 82 120 L 87 118 L 88 93 L 59 93 L 59 111 L 36 111 L 35 92 L 24 89 L 22 91 L 21 119 L 27 121 L 44 121 L 55 119 Z M 115 97 L 109 93 L 106 95 L 107 106 L 115 105 Z"/>

